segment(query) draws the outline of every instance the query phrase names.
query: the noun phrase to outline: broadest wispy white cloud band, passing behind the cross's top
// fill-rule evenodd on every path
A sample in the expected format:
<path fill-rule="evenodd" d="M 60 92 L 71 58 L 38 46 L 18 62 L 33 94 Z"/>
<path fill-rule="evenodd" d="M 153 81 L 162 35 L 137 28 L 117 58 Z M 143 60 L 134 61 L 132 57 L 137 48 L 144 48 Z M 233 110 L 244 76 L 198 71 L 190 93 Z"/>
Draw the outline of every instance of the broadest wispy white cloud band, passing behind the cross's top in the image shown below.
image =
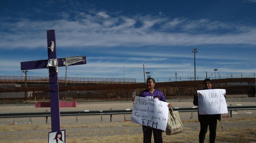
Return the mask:
<path fill-rule="evenodd" d="M 37 48 L 44 46 L 45 29 L 55 29 L 58 32 L 58 45 L 61 47 L 73 46 L 126 46 L 140 47 L 146 45 L 158 46 L 188 46 L 188 45 L 212 45 L 212 44 L 249 44 L 256 45 L 255 28 L 248 26 L 237 26 L 237 24 L 225 24 L 218 21 L 202 19 L 199 21 L 186 21 L 184 19 L 154 19 L 151 16 L 136 16 L 135 19 L 120 16 L 112 18 L 106 13 L 99 12 L 106 19 L 97 20 L 87 14 L 86 18 L 79 21 L 53 20 L 53 21 L 31 21 L 21 19 L 20 21 L 7 25 L 12 33 L 1 34 L 0 48 L 10 45 L 10 48 Z M 119 20 L 117 20 L 119 19 Z M 135 27 L 137 21 L 142 26 Z M 168 22 L 172 26 L 182 27 L 182 32 L 168 32 L 168 29 L 154 29 L 156 24 Z M 230 34 L 206 33 L 207 30 L 237 30 Z M 24 30 L 26 29 L 26 30 Z M 30 29 L 28 31 L 28 29 Z M 204 29 L 205 33 L 191 34 L 191 30 Z M 187 30 L 187 31 L 186 31 Z M 36 35 L 36 36 L 35 36 Z M 99 40 L 100 39 L 100 40 Z M 10 44 L 10 41 L 15 43 Z M 40 42 L 43 41 L 43 42 Z M 26 41 L 26 42 L 24 42 Z M 33 42 L 37 41 L 37 42 Z M 30 43 L 30 44 L 28 44 Z"/>

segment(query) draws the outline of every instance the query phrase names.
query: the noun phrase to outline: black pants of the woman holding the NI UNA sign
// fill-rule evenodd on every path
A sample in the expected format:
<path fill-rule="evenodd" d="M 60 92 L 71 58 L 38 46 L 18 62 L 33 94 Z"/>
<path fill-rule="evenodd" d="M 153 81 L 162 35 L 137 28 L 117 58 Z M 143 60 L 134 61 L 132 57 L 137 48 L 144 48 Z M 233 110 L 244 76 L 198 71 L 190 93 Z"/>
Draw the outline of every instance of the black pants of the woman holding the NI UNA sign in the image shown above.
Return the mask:
<path fill-rule="evenodd" d="M 209 134 L 210 143 L 215 142 L 217 119 L 208 119 L 207 122 L 200 122 L 199 143 L 204 143 L 205 135 L 208 130 L 208 125 L 209 125 L 209 131 L 210 131 L 210 134 Z"/>

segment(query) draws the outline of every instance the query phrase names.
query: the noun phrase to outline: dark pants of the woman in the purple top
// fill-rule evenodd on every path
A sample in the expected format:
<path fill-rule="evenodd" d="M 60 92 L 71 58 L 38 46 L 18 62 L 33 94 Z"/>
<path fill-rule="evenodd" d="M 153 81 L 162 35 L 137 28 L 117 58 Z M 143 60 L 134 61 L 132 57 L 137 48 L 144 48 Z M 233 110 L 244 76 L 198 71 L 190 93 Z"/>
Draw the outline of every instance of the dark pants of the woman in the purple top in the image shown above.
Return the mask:
<path fill-rule="evenodd" d="M 152 131 L 154 135 L 154 143 L 162 143 L 162 130 L 152 127 L 142 126 L 143 143 L 151 143 Z"/>

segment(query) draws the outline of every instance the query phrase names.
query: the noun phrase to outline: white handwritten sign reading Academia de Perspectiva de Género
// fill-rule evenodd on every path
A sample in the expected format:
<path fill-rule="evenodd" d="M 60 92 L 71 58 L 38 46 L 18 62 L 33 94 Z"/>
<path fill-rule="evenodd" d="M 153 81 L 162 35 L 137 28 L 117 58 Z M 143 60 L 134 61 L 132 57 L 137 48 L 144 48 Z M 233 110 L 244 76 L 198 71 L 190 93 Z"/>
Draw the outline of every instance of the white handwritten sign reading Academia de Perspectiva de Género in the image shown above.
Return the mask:
<path fill-rule="evenodd" d="M 168 103 L 136 96 L 133 102 L 132 119 L 136 124 L 166 130 L 168 121 Z"/>

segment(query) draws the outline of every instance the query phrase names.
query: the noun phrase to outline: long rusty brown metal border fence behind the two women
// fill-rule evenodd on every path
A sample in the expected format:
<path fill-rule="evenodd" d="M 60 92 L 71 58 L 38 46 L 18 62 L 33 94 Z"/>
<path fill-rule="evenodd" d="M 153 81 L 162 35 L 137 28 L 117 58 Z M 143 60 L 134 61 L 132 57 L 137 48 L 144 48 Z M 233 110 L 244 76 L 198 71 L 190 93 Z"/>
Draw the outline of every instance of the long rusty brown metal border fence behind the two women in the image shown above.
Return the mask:
<path fill-rule="evenodd" d="M 226 89 L 228 95 L 255 97 L 255 78 L 212 79 L 212 87 Z M 192 98 L 196 90 L 203 88 L 203 80 L 181 82 L 157 82 L 166 99 Z M 59 84 L 60 101 L 129 101 L 146 89 L 145 83 L 77 83 Z M 0 86 L 0 103 L 50 101 L 49 84 Z"/>

